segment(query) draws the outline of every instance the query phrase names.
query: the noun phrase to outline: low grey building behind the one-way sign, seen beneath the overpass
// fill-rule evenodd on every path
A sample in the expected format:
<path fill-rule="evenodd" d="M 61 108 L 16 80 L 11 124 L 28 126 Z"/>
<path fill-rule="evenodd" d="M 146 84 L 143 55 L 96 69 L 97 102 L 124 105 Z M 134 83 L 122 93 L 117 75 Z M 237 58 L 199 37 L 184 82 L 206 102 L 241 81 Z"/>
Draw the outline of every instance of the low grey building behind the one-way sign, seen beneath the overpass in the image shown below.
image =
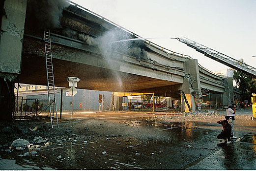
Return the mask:
<path fill-rule="evenodd" d="M 18 93 L 18 107 L 21 106 L 21 102 L 29 107 L 33 106 L 38 100 L 38 106 L 46 107 L 48 102 L 48 91 L 45 85 L 26 85 L 20 84 Z M 18 87 L 18 85 L 15 85 Z M 62 110 L 72 109 L 72 96 L 69 94 L 67 88 L 56 87 L 56 103 L 57 109 L 60 109 L 60 95 L 61 89 L 63 90 Z M 17 98 L 17 89 L 14 90 L 15 97 Z M 74 95 L 74 110 L 86 110 L 97 111 L 102 109 L 102 103 L 98 102 L 99 94 L 102 95 L 103 110 L 111 109 L 112 92 L 109 91 L 95 91 L 86 89 L 77 89 L 77 94 Z M 16 99 L 17 100 L 17 99 Z M 16 101 L 15 101 L 16 102 Z"/>

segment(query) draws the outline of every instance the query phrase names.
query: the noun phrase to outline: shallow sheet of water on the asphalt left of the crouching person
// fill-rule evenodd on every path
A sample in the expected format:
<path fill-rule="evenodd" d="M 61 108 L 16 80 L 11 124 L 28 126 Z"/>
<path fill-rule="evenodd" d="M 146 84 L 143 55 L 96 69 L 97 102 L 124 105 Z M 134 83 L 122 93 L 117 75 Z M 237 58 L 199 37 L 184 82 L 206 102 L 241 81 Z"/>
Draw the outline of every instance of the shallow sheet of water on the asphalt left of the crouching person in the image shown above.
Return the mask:
<path fill-rule="evenodd" d="M 217 133 L 197 128 L 199 123 L 161 123 L 155 121 L 154 117 L 146 120 L 125 119 L 118 122 L 122 122 L 118 127 L 122 128 L 118 132 L 121 136 L 111 136 L 108 130 L 104 135 L 91 133 L 86 138 L 83 133 L 77 133 L 70 135 L 70 140 L 69 137 L 65 137 L 66 141 L 62 142 L 62 148 L 58 148 L 60 142 L 51 140 L 48 148 L 51 147 L 52 150 L 40 151 L 46 158 L 29 156 L 20 160 L 29 159 L 40 168 L 51 166 L 58 170 L 170 170 L 181 168 L 199 158 L 199 154 L 208 154 L 217 144 L 214 142 Z M 206 131 L 209 134 L 206 134 Z M 75 139 L 77 145 L 71 146 Z M 95 143 L 85 145 L 84 140 Z M 104 151 L 106 154 L 103 154 Z M 61 158 L 57 159 L 59 155 Z"/>

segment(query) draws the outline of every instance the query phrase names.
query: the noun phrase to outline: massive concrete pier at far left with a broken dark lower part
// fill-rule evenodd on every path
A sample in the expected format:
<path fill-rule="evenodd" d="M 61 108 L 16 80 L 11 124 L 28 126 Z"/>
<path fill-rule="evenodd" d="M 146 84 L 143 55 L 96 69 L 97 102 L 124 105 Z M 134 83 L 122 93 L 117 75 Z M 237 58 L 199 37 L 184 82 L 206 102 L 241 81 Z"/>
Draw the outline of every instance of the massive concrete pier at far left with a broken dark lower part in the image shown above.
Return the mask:
<path fill-rule="evenodd" d="M 11 121 L 14 79 L 21 73 L 27 0 L 0 2 L 0 120 Z"/>

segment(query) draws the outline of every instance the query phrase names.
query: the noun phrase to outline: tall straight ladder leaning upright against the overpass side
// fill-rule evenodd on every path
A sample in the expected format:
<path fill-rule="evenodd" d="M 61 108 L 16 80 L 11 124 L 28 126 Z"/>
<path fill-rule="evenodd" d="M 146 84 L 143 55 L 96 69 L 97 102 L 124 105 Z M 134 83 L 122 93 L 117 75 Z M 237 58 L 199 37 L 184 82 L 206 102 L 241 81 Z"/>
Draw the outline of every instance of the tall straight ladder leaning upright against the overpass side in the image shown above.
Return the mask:
<path fill-rule="evenodd" d="M 52 128 L 54 126 L 58 127 L 58 117 L 57 117 L 57 106 L 55 97 L 55 84 L 54 84 L 54 69 L 52 60 L 52 46 L 51 46 L 51 33 L 50 30 L 47 32 L 44 30 L 44 45 L 45 45 L 45 64 L 47 73 L 47 90 L 48 90 L 48 100 Z M 50 93 L 50 87 L 53 87 L 53 93 Z M 56 120 L 54 121 L 54 118 Z"/>

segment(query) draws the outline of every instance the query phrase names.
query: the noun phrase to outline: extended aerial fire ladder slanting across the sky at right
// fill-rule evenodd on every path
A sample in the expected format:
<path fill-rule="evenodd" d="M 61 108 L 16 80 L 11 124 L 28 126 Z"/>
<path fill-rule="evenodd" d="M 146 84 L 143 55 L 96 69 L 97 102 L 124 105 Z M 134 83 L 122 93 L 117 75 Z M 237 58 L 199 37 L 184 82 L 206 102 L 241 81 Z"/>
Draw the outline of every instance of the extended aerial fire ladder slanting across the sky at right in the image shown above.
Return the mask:
<path fill-rule="evenodd" d="M 182 37 L 182 38 L 178 38 L 178 40 L 179 40 L 179 42 L 187 44 L 188 46 L 196 49 L 198 52 L 204 54 L 205 56 L 207 56 L 215 61 L 218 61 L 218 62 L 225 64 L 233 69 L 236 69 L 238 71 L 241 71 L 245 74 L 248 74 L 248 75 L 256 78 L 256 68 L 253 66 L 250 66 L 241 61 L 233 59 L 223 53 L 220 53 L 216 50 L 206 47 L 200 43 L 196 43 L 190 39 Z"/>

